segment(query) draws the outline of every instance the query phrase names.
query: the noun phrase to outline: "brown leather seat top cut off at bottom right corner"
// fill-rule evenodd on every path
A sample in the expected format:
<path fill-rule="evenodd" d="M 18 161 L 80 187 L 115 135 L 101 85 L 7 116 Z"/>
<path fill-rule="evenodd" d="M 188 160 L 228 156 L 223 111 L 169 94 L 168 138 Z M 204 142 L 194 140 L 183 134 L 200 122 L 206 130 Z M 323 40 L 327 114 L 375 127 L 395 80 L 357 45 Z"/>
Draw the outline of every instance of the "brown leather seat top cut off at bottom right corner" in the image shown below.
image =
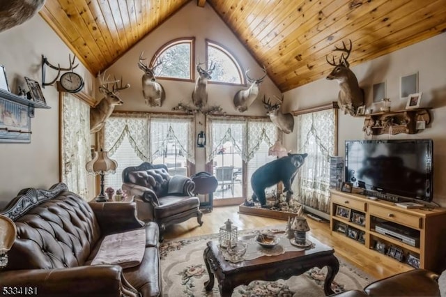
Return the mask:
<path fill-rule="evenodd" d="M 413 269 L 368 284 L 363 291 L 351 290 L 331 296 L 440 296 L 438 274 L 425 269 Z"/>

